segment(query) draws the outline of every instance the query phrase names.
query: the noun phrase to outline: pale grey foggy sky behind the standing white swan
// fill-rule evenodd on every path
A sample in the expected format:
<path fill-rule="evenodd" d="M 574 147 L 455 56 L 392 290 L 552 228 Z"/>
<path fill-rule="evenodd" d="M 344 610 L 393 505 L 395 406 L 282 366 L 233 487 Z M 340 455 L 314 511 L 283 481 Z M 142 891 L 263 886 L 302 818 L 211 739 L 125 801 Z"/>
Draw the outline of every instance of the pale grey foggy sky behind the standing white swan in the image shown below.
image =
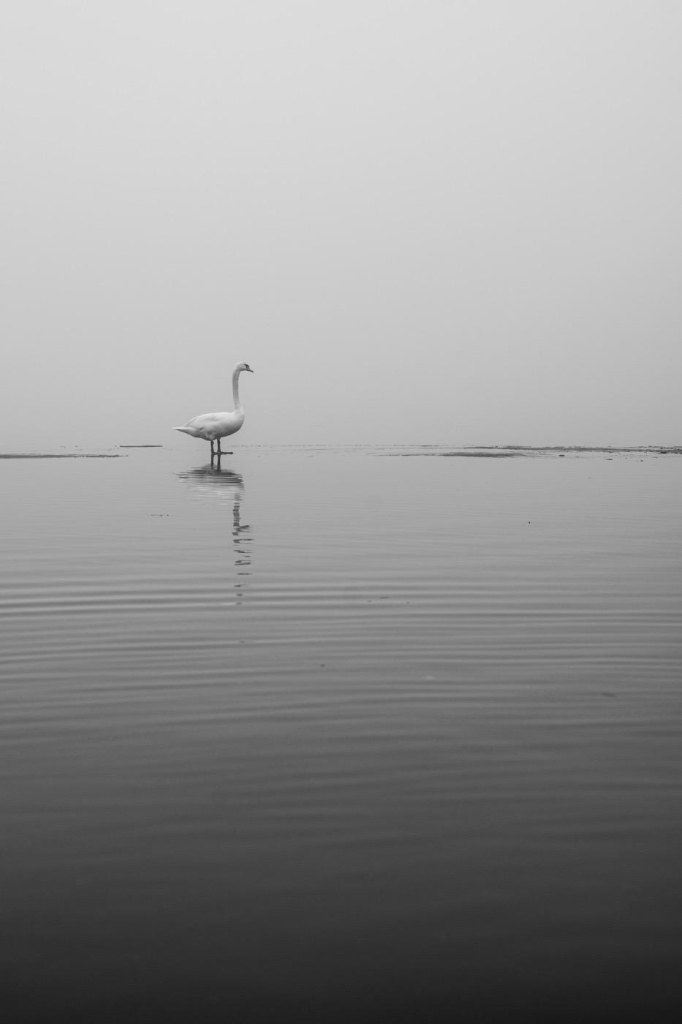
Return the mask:
<path fill-rule="evenodd" d="M 0 449 L 679 443 L 678 0 L 8 0 Z"/>

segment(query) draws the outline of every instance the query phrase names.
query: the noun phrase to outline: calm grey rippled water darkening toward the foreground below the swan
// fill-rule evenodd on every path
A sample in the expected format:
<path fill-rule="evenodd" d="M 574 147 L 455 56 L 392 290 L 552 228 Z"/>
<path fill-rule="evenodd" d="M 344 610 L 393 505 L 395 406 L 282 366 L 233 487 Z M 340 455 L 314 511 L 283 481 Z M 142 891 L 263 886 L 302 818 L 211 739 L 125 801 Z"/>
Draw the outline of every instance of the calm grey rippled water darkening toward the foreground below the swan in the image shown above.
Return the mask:
<path fill-rule="evenodd" d="M 677 1020 L 682 459 L 204 449 L 0 461 L 4 1019 Z"/>

